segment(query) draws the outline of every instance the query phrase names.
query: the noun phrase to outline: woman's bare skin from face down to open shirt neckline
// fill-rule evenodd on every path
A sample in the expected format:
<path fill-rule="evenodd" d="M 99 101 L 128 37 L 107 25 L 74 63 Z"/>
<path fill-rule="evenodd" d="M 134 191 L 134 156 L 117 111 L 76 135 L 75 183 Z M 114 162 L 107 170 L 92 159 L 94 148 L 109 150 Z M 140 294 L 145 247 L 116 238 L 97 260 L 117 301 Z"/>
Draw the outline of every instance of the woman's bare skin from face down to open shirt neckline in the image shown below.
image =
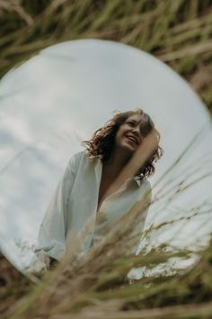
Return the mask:
<path fill-rule="evenodd" d="M 139 114 L 129 116 L 128 120 L 120 125 L 119 131 L 116 134 L 111 159 L 102 166 L 97 211 L 99 211 L 103 200 L 119 188 L 126 178 L 134 176 L 137 169 L 142 166 L 139 160 L 136 165 L 132 162 L 133 155 L 136 155 L 137 151 L 139 151 L 137 158 L 139 157 L 141 161 L 145 162 L 146 156 L 143 156 L 143 158 L 140 156 L 142 153 L 141 145 L 144 146 L 143 150 L 149 155 L 155 149 L 155 145 L 158 145 L 158 140 L 155 139 L 156 130 L 144 137 L 142 135 L 142 125 L 144 126 L 144 117 Z M 154 142 L 151 139 L 154 139 Z M 132 165 L 129 165 L 131 162 Z"/>

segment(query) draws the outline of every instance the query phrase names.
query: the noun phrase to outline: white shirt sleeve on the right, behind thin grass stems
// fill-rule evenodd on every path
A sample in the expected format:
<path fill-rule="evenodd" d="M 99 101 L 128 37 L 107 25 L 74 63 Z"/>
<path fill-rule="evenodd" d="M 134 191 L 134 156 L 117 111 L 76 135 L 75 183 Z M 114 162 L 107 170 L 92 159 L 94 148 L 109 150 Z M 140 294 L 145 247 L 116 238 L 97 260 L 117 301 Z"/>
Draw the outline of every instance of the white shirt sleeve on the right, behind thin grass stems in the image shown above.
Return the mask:
<path fill-rule="evenodd" d="M 132 238 L 134 238 L 134 241 L 133 241 L 134 244 L 133 244 L 133 248 L 131 252 L 136 255 L 139 253 L 141 235 L 145 228 L 146 215 L 148 213 L 149 206 L 151 203 L 151 197 L 152 197 L 152 188 L 150 186 L 150 183 L 147 182 L 144 189 L 143 196 L 141 197 L 141 200 L 140 200 L 140 210 L 137 214 L 137 223 L 132 232 Z"/>

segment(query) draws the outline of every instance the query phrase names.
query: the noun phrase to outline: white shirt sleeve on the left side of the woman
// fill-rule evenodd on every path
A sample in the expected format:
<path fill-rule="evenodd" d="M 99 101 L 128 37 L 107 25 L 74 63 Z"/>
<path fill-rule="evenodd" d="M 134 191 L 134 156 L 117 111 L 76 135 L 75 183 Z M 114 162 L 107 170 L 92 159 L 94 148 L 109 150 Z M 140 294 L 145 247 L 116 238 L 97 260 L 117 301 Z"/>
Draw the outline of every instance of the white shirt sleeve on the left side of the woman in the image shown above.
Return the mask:
<path fill-rule="evenodd" d="M 56 260 L 60 260 L 66 251 L 67 205 L 74 180 L 75 157 L 69 160 L 40 225 L 36 251 L 43 251 Z"/>

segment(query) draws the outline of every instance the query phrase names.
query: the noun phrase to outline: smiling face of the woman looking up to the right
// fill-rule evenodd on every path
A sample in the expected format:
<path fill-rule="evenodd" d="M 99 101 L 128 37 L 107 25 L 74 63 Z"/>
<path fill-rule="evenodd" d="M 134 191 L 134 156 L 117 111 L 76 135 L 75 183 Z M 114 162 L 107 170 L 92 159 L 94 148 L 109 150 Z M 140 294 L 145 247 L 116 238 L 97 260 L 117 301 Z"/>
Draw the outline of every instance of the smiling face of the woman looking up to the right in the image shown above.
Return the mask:
<path fill-rule="evenodd" d="M 144 115 L 133 114 L 129 116 L 125 123 L 119 126 L 115 138 L 115 148 L 133 153 L 148 133 L 146 132 L 147 126 Z"/>

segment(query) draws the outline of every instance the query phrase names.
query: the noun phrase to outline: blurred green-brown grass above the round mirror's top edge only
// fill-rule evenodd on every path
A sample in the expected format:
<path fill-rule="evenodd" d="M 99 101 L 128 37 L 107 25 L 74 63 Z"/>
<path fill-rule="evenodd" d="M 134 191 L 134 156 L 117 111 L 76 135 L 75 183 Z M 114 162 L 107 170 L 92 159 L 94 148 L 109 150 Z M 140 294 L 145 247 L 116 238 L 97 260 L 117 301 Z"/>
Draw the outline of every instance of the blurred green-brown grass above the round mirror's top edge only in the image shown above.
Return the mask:
<path fill-rule="evenodd" d="M 1 0 L 0 77 L 61 41 L 120 41 L 162 59 L 212 109 L 211 0 Z"/>

